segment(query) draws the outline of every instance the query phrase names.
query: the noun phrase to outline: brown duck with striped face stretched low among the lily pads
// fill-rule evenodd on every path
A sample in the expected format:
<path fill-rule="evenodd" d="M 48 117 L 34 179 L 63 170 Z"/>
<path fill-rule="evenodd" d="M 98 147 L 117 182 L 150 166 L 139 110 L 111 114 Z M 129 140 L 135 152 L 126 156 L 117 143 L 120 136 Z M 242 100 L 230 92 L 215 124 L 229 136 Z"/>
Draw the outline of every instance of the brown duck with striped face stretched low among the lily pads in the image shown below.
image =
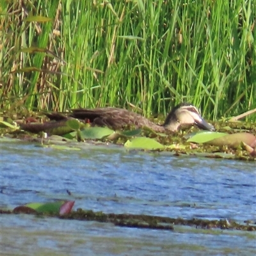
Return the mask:
<path fill-rule="evenodd" d="M 198 109 L 190 103 L 180 103 L 170 111 L 162 125 L 155 124 L 145 116 L 122 108 L 79 108 L 72 109 L 70 113 L 45 113 L 51 120 L 44 124 L 22 124 L 21 129 L 30 132 L 42 132 L 64 126 L 70 118 L 76 118 L 91 126 L 109 127 L 114 130 L 124 129 L 132 125 L 136 129 L 148 127 L 155 132 L 177 132 L 183 125 L 196 125 L 200 129 L 214 131 L 214 126 L 209 124 L 200 115 Z M 67 133 L 67 132 L 66 132 Z"/>

